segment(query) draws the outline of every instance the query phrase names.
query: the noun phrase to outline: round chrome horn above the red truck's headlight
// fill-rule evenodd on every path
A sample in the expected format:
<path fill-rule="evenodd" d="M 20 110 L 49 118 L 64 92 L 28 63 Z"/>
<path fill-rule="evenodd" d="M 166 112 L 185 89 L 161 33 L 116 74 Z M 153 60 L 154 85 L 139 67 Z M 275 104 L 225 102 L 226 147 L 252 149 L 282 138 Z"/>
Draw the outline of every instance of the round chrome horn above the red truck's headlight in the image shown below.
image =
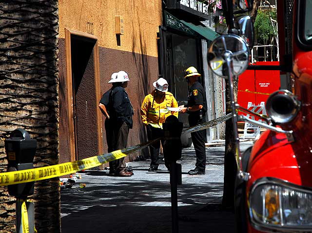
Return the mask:
<path fill-rule="evenodd" d="M 267 100 L 267 114 L 277 124 L 285 124 L 297 115 L 300 102 L 289 90 L 277 90 Z"/>

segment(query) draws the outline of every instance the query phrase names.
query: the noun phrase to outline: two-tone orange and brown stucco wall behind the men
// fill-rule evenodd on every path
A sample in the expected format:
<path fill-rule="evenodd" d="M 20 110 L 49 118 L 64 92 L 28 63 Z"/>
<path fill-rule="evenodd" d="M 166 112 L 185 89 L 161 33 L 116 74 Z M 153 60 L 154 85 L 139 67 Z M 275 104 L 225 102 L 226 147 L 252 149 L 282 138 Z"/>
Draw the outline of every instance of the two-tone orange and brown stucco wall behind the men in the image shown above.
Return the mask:
<path fill-rule="evenodd" d="M 115 31 L 115 16 L 122 16 L 124 19 L 124 35 L 120 36 L 120 45 Z M 128 72 L 130 81 L 126 90 L 135 108 L 134 128 L 130 130 L 128 145 L 136 145 L 146 140 L 145 130 L 139 118 L 139 108 L 144 96 L 152 90 L 152 83 L 158 78 L 156 36 L 159 25 L 161 25 L 161 1 L 159 0 L 59 0 L 60 162 L 71 160 L 70 147 L 74 143 L 69 140 L 71 134 L 69 125 L 72 124 L 73 119 L 68 111 L 73 111 L 73 106 L 66 98 L 72 93 L 68 90 L 65 28 L 94 35 L 97 38 L 100 84 L 98 98 L 111 87 L 107 81 L 113 72 L 120 70 Z M 67 51 L 67 56 L 68 54 Z M 86 76 L 94 74 L 93 71 L 85 72 L 91 72 Z M 90 87 L 90 90 L 94 89 Z M 86 108 L 87 104 L 89 103 L 86 102 Z M 90 104 L 96 106 L 90 106 L 91 108 L 88 109 L 98 108 L 98 103 L 95 101 L 91 101 Z M 93 149 L 90 151 L 83 148 L 83 157 L 91 157 L 107 151 L 104 117 L 101 119 L 102 138 L 95 143 L 102 143 L 102 151 L 95 150 L 97 146 L 92 146 Z M 86 125 L 86 128 L 90 131 L 86 134 L 94 135 L 93 140 L 97 140 L 97 132 L 94 132 L 97 131 L 97 127 Z M 133 157 L 135 156 L 137 155 Z"/>

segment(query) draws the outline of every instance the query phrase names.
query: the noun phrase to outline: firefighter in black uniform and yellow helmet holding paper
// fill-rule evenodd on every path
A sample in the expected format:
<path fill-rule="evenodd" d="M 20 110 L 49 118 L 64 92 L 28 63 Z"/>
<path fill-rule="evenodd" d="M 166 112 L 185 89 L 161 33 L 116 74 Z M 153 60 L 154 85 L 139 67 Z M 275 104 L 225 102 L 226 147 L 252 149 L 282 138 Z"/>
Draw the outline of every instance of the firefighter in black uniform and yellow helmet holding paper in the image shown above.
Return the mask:
<path fill-rule="evenodd" d="M 205 122 L 207 111 L 207 101 L 205 90 L 197 81 L 200 74 L 196 68 L 191 66 L 185 70 L 185 78 L 189 84 L 189 96 L 187 105 L 179 106 L 179 112 L 189 114 L 189 125 L 195 126 Z M 204 140 L 204 130 L 191 133 L 192 142 L 196 153 L 196 167 L 188 172 L 190 175 L 204 175 L 206 169 L 206 148 Z"/>

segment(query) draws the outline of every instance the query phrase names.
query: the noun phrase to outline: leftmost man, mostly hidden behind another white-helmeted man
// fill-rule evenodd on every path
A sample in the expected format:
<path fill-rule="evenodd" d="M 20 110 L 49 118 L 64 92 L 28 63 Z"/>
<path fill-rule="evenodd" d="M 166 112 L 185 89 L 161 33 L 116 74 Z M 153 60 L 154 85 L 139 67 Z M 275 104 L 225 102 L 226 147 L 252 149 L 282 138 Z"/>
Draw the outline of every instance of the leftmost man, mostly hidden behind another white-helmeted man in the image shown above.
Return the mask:
<path fill-rule="evenodd" d="M 111 76 L 111 80 L 115 80 L 117 78 L 117 72 L 113 73 Z M 113 88 L 113 87 L 112 87 Z M 109 94 L 112 91 L 112 88 L 107 90 L 99 101 L 98 107 L 105 116 L 105 135 L 106 135 L 106 143 L 107 143 L 107 152 L 110 153 L 113 150 L 113 127 L 109 120 Z M 109 174 L 114 175 L 116 170 L 116 161 L 109 162 Z"/>

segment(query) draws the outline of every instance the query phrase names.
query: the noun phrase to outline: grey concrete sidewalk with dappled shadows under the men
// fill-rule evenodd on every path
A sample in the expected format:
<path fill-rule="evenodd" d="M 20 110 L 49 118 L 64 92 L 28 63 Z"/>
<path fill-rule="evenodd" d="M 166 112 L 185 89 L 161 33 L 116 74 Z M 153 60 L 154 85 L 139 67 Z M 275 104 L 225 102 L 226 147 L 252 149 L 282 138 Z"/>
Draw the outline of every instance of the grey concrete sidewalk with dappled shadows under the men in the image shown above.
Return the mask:
<path fill-rule="evenodd" d="M 245 150 L 252 142 L 241 143 Z M 206 148 L 206 175 L 190 176 L 195 150 L 182 151 L 182 185 L 178 186 L 180 233 L 234 232 L 234 215 L 221 210 L 224 146 Z M 171 194 L 164 164 L 148 172 L 150 161 L 129 162 L 129 178 L 108 170 L 85 171 L 75 186 L 61 190 L 63 233 L 170 233 Z M 79 188 L 85 183 L 85 188 Z"/>

